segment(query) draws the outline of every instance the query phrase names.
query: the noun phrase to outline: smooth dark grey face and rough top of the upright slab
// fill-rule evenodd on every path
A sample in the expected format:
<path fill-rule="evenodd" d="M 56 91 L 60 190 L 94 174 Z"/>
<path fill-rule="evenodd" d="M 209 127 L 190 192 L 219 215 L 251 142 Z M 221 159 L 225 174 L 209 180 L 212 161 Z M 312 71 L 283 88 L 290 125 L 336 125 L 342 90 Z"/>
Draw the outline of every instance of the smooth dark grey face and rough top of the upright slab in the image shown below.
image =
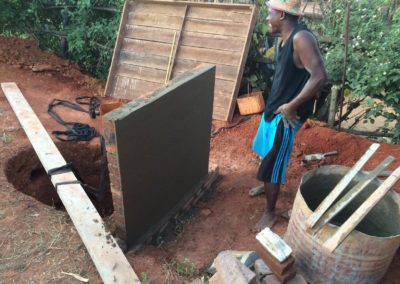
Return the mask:
<path fill-rule="evenodd" d="M 141 243 L 208 174 L 215 67 L 189 71 L 150 97 L 110 112 L 128 247 Z"/>

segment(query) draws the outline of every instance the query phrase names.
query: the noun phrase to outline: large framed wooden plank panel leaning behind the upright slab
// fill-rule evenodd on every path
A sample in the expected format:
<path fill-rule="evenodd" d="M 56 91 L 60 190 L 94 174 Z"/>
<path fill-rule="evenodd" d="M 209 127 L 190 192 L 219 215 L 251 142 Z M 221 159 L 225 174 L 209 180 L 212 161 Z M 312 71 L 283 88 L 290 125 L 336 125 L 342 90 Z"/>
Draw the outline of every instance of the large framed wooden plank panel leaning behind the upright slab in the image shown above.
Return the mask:
<path fill-rule="evenodd" d="M 203 63 L 215 64 L 213 118 L 229 121 L 256 16 L 255 5 L 127 1 L 105 96 L 133 100 L 159 88 L 177 33 L 171 79 Z"/>

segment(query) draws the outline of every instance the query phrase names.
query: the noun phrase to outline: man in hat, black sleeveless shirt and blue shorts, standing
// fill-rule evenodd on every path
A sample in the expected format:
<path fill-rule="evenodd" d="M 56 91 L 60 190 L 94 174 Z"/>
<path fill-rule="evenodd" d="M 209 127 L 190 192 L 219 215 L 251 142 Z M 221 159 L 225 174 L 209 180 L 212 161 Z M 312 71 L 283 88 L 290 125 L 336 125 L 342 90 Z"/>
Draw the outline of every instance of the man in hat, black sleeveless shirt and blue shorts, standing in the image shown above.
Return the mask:
<path fill-rule="evenodd" d="M 326 82 L 326 72 L 314 35 L 298 23 L 300 0 L 270 0 L 268 27 L 282 41 L 271 92 L 267 97 L 253 150 L 263 160 L 257 179 L 264 182 L 267 206 L 258 229 L 272 227 L 275 205 L 284 183 L 294 136 L 312 114 L 317 93 Z"/>

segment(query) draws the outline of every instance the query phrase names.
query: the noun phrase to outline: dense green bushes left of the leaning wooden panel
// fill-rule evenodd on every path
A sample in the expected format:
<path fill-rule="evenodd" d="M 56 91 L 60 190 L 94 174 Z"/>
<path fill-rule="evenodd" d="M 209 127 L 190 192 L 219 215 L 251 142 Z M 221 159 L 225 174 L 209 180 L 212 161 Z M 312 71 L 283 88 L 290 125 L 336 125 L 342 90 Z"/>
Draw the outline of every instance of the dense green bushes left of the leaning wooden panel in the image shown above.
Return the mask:
<path fill-rule="evenodd" d="M 31 34 L 42 48 L 54 51 L 67 39 L 69 59 L 98 78 L 107 77 L 124 0 L 25 2 L 0 4 L 1 34 Z"/>

